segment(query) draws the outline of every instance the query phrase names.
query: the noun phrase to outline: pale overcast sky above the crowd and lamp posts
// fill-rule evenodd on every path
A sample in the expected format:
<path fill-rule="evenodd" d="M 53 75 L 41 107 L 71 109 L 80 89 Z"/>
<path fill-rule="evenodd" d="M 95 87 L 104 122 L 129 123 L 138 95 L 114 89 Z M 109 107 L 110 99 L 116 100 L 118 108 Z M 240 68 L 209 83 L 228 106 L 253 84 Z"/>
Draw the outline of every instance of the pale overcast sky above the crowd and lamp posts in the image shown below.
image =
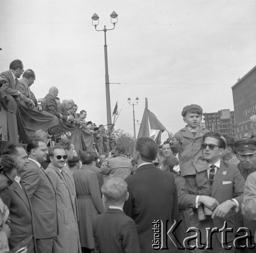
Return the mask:
<path fill-rule="evenodd" d="M 59 98 L 73 99 L 88 120 L 106 124 L 104 33 L 111 107 L 123 105 L 115 126 L 133 134 L 132 106 L 141 121 L 148 108 L 172 132 L 184 126 L 182 108 L 200 104 L 204 112 L 233 110 L 231 86 L 256 64 L 256 1 L 0 0 L 0 70 L 14 59 L 32 68 L 31 90 L 45 97 L 51 86 Z M 138 133 L 139 126 L 136 126 Z"/>

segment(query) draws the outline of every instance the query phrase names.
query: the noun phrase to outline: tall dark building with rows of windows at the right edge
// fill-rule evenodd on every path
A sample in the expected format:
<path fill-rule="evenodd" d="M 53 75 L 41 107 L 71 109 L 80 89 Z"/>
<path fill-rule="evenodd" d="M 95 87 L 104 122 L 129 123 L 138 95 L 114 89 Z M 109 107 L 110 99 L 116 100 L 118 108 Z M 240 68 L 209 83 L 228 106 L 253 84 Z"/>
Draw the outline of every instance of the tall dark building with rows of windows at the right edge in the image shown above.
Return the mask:
<path fill-rule="evenodd" d="M 256 114 L 256 66 L 232 87 L 236 136 L 250 136 L 255 133 L 250 117 Z M 256 130 L 256 127 L 255 127 Z"/>

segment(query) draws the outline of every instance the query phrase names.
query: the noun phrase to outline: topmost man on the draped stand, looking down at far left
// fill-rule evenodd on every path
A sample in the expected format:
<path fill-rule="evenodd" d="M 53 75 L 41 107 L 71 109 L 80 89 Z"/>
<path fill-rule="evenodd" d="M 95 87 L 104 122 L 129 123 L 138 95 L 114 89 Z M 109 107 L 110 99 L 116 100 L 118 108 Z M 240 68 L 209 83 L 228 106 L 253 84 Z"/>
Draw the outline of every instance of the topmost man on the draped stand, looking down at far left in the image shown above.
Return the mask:
<path fill-rule="evenodd" d="M 24 68 L 22 61 L 14 60 L 10 63 L 9 71 L 5 71 L 0 74 L 0 77 L 6 80 L 6 83 L 3 84 L 1 89 L 6 93 L 5 95 L 9 100 L 8 111 L 2 108 L 0 112 L 0 122 L 2 125 L 2 141 L 18 143 L 16 101 L 24 99 L 24 95 L 19 91 L 18 81 L 18 78 L 23 74 L 23 72 Z"/>

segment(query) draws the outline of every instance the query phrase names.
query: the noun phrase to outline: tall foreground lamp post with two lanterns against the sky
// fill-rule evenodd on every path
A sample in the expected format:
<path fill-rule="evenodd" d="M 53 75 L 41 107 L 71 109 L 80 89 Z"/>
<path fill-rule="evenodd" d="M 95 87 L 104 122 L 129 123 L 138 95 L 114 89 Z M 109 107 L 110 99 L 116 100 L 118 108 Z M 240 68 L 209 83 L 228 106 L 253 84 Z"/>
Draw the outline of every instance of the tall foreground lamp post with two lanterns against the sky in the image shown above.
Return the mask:
<path fill-rule="evenodd" d="M 113 11 L 110 14 L 110 20 L 111 23 L 114 25 L 112 29 L 106 29 L 106 26 L 104 26 L 104 29 L 98 30 L 97 26 L 99 25 L 99 16 L 94 13 L 92 16 L 92 25 L 95 27 L 95 30 L 98 32 L 103 31 L 104 32 L 104 57 L 105 57 L 105 88 L 106 88 L 106 122 L 108 123 L 108 129 L 112 130 L 112 119 L 111 119 L 111 105 L 110 105 L 110 80 L 109 80 L 109 68 L 108 68 L 108 51 L 107 51 L 107 45 L 106 45 L 106 31 L 113 30 L 115 28 L 115 25 L 117 23 L 117 13 Z"/>

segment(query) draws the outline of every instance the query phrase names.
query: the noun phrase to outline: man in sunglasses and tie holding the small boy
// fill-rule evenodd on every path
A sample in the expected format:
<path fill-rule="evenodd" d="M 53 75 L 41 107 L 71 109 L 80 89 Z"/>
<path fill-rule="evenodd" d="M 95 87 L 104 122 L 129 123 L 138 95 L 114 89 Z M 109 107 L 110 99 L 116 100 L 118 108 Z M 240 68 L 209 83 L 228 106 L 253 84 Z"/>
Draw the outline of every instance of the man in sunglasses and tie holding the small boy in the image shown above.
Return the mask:
<path fill-rule="evenodd" d="M 195 252 L 234 252 L 235 214 L 241 209 L 245 180 L 236 165 L 223 163 L 220 160 L 225 147 L 226 141 L 219 133 L 209 132 L 204 135 L 202 144 L 203 156 L 208 162 L 205 177 L 208 178 L 211 195 L 197 196 L 189 194 L 187 188 L 184 188 L 183 194 L 179 196 L 180 204 L 193 208 L 194 214 L 191 217 L 191 226 L 197 227 L 201 231 L 201 242 L 199 244 L 206 247 L 211 243 L 213 247 L 213 249 L 208 250 L 196 247 Z M 200 204 L 206 205 L 213 211 L 212 216 L 208 216 L 203 221 L 198 221 L 195 211 Z M 222 245 L 223 235 L 221 231 L 220 233 L 212 234 L 212 236 L 209 233 L 208 238 L 206 238 L 206 228 L 217 227 L 221 230 L 225 225 L 224 222 L 226 222 L 228 228 L 233 229 L 232 232 L 224 235 L 227 245 L 232 246 L 229 250 L 225 242 Z M 206 245 L 207 242 L 208 245 Z"/>

